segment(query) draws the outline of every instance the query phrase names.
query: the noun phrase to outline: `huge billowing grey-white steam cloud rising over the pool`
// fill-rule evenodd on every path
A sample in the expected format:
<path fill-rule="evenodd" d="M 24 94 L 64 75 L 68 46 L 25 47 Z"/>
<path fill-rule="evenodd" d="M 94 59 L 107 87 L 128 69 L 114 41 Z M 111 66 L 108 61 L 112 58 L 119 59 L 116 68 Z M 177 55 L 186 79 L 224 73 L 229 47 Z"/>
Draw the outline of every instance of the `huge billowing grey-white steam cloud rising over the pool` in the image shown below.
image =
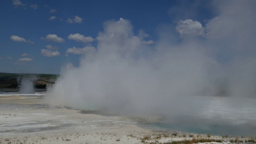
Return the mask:
<path fill-rule="evenodd" d="M 254 3 L 254 4 L 252 4 Z M 255 1 L 214 1 L 218 16 L 158 28 L 151 45 L 123 18 L 104 23 L 95 51 L 72 64 L 46 100 L 80 109 L 130 114 L 186 114 L 188 98 L 255 97 Z M 189 97 L 190 96 L 190 97 Z M 200 105 L 200 104 L 199 104 Z"/>

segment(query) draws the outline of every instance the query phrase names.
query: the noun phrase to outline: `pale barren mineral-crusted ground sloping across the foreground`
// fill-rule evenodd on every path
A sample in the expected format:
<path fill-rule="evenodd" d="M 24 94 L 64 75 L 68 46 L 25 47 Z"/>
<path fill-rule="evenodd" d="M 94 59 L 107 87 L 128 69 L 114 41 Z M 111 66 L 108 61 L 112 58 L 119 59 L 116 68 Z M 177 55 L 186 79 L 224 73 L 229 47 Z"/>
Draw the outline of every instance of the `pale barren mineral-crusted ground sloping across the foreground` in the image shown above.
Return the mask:
<path fill-rule="evenodd" d="M 42 104 L 40 98 L 0 98 L 0 144 L 140 144 L 180 140 L 252 140 L 139 128 L 158 117 L 128 117 Z"/>

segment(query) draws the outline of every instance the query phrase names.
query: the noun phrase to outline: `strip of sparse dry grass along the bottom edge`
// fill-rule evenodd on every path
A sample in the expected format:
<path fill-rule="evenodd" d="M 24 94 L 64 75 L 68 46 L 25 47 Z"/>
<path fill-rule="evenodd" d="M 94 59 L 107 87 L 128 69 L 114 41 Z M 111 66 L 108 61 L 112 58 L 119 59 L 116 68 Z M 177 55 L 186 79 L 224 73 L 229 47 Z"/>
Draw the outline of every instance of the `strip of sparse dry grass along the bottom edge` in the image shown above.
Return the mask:
<path fill-rule="evenodd" d="M 99 133 L 100 134 L 100 133 Z M 177 134 L 177 136 L 174 136 L 174 134 Z M 85 134 L 84 134 L 85 135 Z M 192 135 L 193 137 L 191 137 Z M 107 133 L 102 133 L 102 136 L 100 139 L 108 143 L 109 136 Z M 113 143 L 124 143 L 126 142 L 126 139 L 122 140 L 119 136 L 116 136 L 116 134 L 112 134 Z M 210 134 L 207 135 L 200 135 L 200 134 L 184 134 L 179 132 L 156 132 L 151 134 L 143 134 L 141 137 L 134 136 L 134 134 L 128 134 L 126 135 L 129 140 L 129 138 L 133 138 L 137 143 L 142 144 L 198 144 L 198 143 L 204 143 L 204 142 L 226 142 L 229 141 L 231 143 L 241 144 L 243 142 L 248 143 L 256 143 L 256 137 L 230 137 L 230 136 L 211 136 Z M 30 142 L 30 144 L 35 143 L 41 143 L 41 142 L 53 142 L 54 140 L 60 143 L 65 143 L 67 141 L 73 141 L 73 143 L 76 142 L 76 139 L 79 137 L 79 139 L 82 137 L 82 134 L 74 133 L 74 134 L 62 134 L 62 135 L 54 135 L 54 136 L 38 136 L 36 138 L 34 137 L 23 137 L 23 138 L 0 138 L 0 144 L 26 144 Z M 182 138 L 183 137 L 183 138 Z M 112 140 L 110 138 L 110 140 Z M 70 142 L 69 142 L 70 143 Z M 83 144 L 92 144 L 90 140 L 86 139 Z M 81 143 L 82 144 L 82 143 Z"/>

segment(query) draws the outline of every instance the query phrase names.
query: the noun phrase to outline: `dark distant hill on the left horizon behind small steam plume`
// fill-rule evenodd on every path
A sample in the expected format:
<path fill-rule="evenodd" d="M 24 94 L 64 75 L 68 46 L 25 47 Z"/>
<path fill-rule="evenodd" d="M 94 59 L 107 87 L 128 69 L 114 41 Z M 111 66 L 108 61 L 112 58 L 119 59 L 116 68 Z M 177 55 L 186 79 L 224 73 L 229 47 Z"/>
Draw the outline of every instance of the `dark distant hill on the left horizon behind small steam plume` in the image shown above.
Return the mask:
<path fill-rule="evenodd" d="M 23 78 L 33 80 L 35 88 L 46 88 L 47 85 L 54 84 L 59 76 L 58 74 L 16 74 L 0 72 L 0 88 L 17 88 Z"/>

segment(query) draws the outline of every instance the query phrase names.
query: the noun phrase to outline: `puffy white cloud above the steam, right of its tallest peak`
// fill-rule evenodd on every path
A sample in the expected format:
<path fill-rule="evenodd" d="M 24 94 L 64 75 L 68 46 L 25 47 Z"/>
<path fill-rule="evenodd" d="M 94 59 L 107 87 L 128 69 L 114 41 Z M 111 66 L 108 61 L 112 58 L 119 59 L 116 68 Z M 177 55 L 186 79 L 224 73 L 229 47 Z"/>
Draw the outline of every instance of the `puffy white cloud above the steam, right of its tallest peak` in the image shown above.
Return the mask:
<path fill-rule="evenodd" d="M 178 22 L 178 26 L 176 26 L 176 30 L 180 33 L 180 37 L 184 36 L 202 36 L 204 35 L 204 28 L 202 24 L 198 21 L 193 21 L 191 19 L 188 20 L 180 20 Z"/>

